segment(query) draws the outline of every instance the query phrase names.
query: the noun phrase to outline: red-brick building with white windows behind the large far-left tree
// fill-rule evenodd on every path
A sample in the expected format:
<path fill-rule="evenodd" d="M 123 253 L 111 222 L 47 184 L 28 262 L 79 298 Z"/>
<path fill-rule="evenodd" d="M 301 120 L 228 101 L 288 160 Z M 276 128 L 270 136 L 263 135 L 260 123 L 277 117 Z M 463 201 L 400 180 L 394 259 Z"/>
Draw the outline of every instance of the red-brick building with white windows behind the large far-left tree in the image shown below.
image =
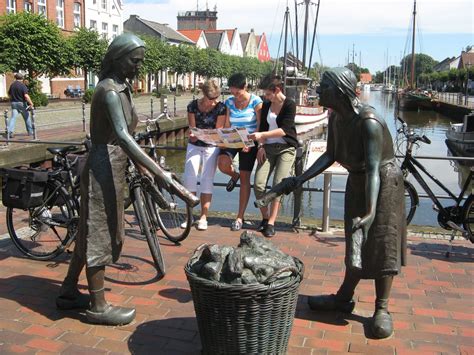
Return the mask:
<path fill-rule="evenodd" d="M 84 0 L 0 0 L 0 15 L 30 11 L 45 15 L 58 25 L 61 31 L 68 35 L 74 28 L 84 26 Z M 42 91 L 52 96 L 64 97 L 68 86 L 84 85 L 82 77 L 72 78 L 39 78 Z M 13 81 L 11 73 L 0 76 L 0 97 L 7 96 L 7 90 Z"/>

